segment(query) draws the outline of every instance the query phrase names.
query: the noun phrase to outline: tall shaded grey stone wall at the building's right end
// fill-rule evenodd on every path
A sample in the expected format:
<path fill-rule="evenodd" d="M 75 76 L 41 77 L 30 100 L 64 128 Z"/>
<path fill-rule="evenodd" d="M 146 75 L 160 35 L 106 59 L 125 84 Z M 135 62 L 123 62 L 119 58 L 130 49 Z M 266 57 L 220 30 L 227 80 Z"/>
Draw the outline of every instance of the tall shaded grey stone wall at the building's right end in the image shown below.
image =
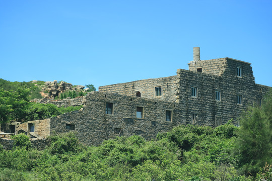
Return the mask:
<path fill-rule="evenodd" d="M 270 87 L 255 84 L 252 73 L 250 74 L 251 68 L 244 68 L 243 77 L 238 78 L 236 65 L 233 67 L 235 71 L 232 73 L 235 76 L 225 73 L 218 76 L 178 69 L 179 106 L 181 110 L 185 110 L 186 124 L 191 124 L 192 114 L 197 114 L 199 125 L 215 126 L 216 116 L 221 117 L 222 124 L 230 119 L 236 121 L 242 111 L 256 104 L 257 99 L 263 98 L 268 92 Z M 196 97 L 191 96 L 191 87 L 197 88 Z M 215 99 L 215 91 L 221 93 L 220 101 Z M 242 96 L 242 104 L 237 104 L 237 95 Z"/>

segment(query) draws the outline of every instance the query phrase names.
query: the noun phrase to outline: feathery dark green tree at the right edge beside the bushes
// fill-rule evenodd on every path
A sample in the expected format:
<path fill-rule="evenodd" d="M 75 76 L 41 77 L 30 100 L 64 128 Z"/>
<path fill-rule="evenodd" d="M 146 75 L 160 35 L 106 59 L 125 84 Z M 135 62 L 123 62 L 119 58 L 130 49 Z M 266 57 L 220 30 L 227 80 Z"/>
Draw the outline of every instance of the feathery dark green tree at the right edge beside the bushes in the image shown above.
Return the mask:
<path fill-rule="evenodd" d="M 250 107 L 241 116 L 241 127 L 236 142 L 239 163 L 245 173 L 255 175 L 272 159 L 272 131 L 271 131 L 271 90 L 261 108 Z"/>

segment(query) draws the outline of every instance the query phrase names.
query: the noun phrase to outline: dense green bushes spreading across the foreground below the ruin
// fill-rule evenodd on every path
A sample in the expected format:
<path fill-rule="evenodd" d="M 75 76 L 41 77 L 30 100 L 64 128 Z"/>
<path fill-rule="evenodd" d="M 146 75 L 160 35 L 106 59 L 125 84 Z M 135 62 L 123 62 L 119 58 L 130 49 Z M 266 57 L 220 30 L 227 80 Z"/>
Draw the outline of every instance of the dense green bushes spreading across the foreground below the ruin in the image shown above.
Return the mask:
<path fill-rule="evenodd" d="M 18 173 L 10 180 L 248 180 L 232 154 L 237 129 L 231 122 L 216 129 L 181 125 L 155 141 L 116 137 L 92 147 L 80 144 L 73 132 L 54 135 L 42 151 L 0 151 L 0 180 L 8 180 L 11 170 Z M 25 145 L 22 138 L 17 142 Z"/>

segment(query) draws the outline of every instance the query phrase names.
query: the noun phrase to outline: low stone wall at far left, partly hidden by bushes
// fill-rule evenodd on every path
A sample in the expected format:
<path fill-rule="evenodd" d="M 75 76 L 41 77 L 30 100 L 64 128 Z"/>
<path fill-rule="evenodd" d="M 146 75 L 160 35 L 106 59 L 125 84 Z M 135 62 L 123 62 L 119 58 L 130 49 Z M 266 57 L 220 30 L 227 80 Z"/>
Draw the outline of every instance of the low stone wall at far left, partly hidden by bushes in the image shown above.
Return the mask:
<path fill-rule="evenodd" d="M 50 141 L 46 138 L 30 138 L 31 145 L 34 149 L 42 150 L 50 144 Z M 9 138 L 0 138 L 0 144 L 6 150 L 12 150 L 13 148 L 13 139 Z"/>

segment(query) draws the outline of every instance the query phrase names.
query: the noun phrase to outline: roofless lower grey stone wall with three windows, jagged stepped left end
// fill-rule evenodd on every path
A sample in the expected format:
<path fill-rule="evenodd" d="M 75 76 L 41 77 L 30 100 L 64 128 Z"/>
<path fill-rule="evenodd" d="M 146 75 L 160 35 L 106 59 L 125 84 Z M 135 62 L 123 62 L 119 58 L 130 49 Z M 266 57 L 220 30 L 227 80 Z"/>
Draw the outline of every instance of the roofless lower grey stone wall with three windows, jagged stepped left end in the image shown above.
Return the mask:
<path fill-rule="evenodd" d="M 86 107 L 82 110 L 51 118 L 50 134 L 71 131 L 66 130 L 65 125 L 75 125 L 82 143 L 98 145 L 119 135 L 141 135 L 152 139 L 159 132 L 170 131 L 174 126 L 184 124 L 181 110 L 174 102 L 100 92 L 89 94 L 86 100 Z M 106 103 L 113 103 L 113 114 L 105 113 Z M 144 109 L 142 119 L 136 118 L 137 106 Z M 172 111 L 172 121 L 166 121 L 166 110 Z"/>

